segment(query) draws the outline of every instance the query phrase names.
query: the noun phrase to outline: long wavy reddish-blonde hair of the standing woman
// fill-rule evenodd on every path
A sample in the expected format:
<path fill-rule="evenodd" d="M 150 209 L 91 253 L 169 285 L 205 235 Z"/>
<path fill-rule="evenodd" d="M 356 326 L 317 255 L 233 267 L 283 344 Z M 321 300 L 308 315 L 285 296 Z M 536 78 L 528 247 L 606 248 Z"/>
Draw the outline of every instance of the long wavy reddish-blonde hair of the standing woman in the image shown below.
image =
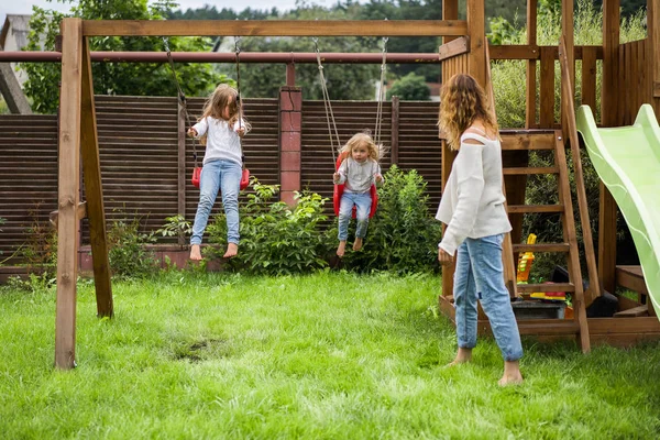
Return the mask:
<path fill-rule="evenodd" d="M 484 89 L 472 76 L 457 74 L 442 85 L 438 120 L 451 150 L 461 147 L 461 135 L 475 120 L 483 122 L 486 132 L 497 134 L 497 122 L 488 111 Z"/>

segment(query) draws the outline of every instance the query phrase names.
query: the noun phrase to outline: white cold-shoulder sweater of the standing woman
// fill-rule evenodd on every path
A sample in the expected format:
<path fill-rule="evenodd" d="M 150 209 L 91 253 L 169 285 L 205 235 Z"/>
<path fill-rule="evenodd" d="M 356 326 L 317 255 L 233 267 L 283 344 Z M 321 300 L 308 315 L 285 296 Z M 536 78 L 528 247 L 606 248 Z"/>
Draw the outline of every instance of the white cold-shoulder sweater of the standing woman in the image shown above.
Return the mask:
<path fill-rule="evenodd" d="M 473 139 L 481 144 L 465 143 Z M 502 193 L 502 146 L 476 133 L 463 133 L 436 219 L 447 224 L 438 244 L 454 255 L 466 238 L 506 233 L 512 230 Z"/>

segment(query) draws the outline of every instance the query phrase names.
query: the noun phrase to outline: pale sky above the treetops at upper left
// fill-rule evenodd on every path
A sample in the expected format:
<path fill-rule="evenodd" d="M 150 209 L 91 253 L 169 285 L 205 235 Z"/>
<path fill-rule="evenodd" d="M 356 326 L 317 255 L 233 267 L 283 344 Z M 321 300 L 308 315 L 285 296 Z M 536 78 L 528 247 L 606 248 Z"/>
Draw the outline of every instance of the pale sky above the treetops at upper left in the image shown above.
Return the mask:
<path fill-rule="evenodd" d="M 178 2 L 182 10 L 204 8 L 205 4 L 215 6 L 217 10 L 222 8 L 230 8 L 239 12 L 245 8 L 252 9 L 272 9 L 277 8 L 280 11 L 293 9 L 296 7 L 296 0 L 175 0 Z M 314 0 L 307 1 L 307 3 L 316 3 L 320 6 L 334 4 L 336 0 Z M 241 4 L 237 7 L 237 4 Z M 30 14 L 32 13 L 32 7 L 37 6 L 44 9 L 55 9 L 62 12 L 68 12 L 70 9 L 69 3 L 59 3 L 56 0 L 48 2 L 47 0 L 0 0 L 0 26 L 4 23 L 6 14 Z M 176 8 L 175 8 L 176 9 Z"/>

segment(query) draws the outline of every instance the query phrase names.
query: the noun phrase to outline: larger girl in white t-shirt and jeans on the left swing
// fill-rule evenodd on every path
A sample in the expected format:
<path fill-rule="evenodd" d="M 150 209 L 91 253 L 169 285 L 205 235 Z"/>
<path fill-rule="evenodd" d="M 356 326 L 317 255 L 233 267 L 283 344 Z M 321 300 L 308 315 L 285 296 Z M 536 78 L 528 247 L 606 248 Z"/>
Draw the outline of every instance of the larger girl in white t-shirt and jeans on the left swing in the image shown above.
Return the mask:
<path fill-rule="evenodd" d="M 221 84 L 207 99 L 199 121 L 188 129 L 188 135 L 206 140 L 206 153 L 199 183 L 199 205 L 190 238 L 190 260 L 201 260 L 200 244 L 209 215 L 222 191 L 227 218 L 227 252 L 231 258 L 239 252 L 239 187 L 242 174 L 241 138 L 250 123 L 241 118 L 238 91 Z"/>

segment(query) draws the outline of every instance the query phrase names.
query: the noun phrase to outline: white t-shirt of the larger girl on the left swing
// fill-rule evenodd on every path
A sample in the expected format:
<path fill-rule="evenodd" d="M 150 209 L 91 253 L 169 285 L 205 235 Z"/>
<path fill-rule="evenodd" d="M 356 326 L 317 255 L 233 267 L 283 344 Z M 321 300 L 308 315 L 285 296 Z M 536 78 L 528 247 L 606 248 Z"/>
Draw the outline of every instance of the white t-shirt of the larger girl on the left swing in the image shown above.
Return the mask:
<path fill-rule="evenodd" d="M 241 127 L 245 127 L 243 122 Z M 193 128 L 198 136 L 207 134 L 206 152 L 204 153 L 204 163 L 217 160 L 227 160 L 242 165 L 241 138 L 237 133 L 239 121 L 229 127 L 223 119 L 206 117 L 197 122 Z M 208 132 L 208 133 L 207 133 Z"/>

